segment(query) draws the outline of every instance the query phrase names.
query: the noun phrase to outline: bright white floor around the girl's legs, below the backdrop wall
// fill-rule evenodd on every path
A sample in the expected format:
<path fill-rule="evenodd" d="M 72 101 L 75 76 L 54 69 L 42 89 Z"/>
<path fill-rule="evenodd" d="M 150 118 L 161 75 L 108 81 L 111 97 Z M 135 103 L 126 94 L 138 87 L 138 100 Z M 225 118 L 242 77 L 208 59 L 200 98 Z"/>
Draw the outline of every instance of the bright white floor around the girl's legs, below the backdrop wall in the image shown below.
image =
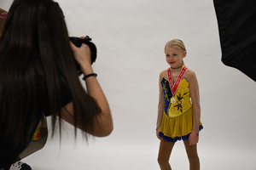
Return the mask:
<path fill-rule="evenodd" d="M 89 144 L 72 135 L 49 139 L 43 150 L 24 160 L 33 170 L 156 170 L 159 140 L 142 143 L 141 139 L 114 140 L 113 137 L 90 139 Z M 203 138 L 203 137 L 202 137 Z M 137 142 L 136 142 L 137 141 Z M 255 145 L 209 144 L 201 139 L 198 144 L 202 170 L 255 170 Z M 183 142 L 178 142 L 172 151 L 173 170 L 189 169 Z"/>

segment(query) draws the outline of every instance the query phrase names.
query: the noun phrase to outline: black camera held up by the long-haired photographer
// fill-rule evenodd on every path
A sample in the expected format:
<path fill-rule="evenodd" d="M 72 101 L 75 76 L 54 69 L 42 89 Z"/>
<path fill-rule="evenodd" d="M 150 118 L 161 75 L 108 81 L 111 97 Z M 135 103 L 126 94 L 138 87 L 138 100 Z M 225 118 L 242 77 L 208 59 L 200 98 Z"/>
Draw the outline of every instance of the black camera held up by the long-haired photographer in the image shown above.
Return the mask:
<path fill-rule="evenodd" d="M 96 48 L 96 45 L 93 42 L 91 42 L 91 38 L 89 36 L 86 36 L 84 39 L 80 39 L 79 37 L 69 37 L 69 40 L 73 42 L 73 44 L 78 48 L 81 47 L 82 43 L 88 45 L 91 52 L 90 54 L 91 65 L 96 61 L 97 48 Z M 75 64 L 77 67 L 78 74 L 82 74 L 79 64 L 77 62 L 75 62 Z"/>

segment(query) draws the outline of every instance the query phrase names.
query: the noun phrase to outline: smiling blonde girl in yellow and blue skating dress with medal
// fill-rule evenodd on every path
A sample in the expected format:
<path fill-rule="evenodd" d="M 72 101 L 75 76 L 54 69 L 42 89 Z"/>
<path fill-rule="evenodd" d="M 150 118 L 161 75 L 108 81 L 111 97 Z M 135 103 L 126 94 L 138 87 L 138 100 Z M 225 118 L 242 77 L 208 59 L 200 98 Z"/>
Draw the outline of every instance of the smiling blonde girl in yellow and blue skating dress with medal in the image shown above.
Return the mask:
<path fill-rule="evenodd" d="M 166 62 L 171 68 L 160 72 L 159 108 L 156 127 L 160 139 L 158 162 L 162 170 L 171 170 L 169 159 L 177 140 L 183 140 L 190 170 L 200 169 L 196 144 L 202 129 L 201 106 L 195 72 L 185 67 L 187 51 L 181 40 L 166 43 Z M 192 103 L 190 101 L 192 100 Z"/>

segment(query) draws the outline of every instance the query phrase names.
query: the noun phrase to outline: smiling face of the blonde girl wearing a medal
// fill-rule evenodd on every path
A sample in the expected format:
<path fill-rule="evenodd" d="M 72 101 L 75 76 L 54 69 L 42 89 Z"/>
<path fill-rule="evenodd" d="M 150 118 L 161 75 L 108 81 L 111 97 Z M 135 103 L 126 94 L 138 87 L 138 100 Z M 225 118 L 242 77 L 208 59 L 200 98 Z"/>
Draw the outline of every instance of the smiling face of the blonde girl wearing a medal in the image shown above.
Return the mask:
<path fill-rule="evenodd" d="M 176 67 L 182 65 L 183 58 L 186 57 L 186 54 L 187 54 L 187 52 L 183 51 L 180 48 L 167 47 L 166 48 L 166 62 L 172 68 L 176 68 Z"/>

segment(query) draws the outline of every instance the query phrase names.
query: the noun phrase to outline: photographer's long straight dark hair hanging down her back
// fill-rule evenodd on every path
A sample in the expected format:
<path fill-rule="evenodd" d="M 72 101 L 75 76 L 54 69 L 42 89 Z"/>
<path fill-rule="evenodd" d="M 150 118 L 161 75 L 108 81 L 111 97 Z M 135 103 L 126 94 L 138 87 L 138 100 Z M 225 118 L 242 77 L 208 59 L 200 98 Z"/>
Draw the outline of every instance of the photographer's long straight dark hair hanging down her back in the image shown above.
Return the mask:
<path fill-rule="evenodd" d="M 6 122 L 5 138 L 14 144 L 33 133 L 35 124 L 26 133 L 24 129 L 28 116 L 36 122 L 36 74 L 47 89 L 53 132 L 58 122 L 61 133 L 60 79 L 72 94 L 75 134 L 77 123 L 84 131 L 93 130 L 101 110 L 79 82 L 59 5 L 52 0 L 15 0 L 0 40 L 0 122 Z"/>

